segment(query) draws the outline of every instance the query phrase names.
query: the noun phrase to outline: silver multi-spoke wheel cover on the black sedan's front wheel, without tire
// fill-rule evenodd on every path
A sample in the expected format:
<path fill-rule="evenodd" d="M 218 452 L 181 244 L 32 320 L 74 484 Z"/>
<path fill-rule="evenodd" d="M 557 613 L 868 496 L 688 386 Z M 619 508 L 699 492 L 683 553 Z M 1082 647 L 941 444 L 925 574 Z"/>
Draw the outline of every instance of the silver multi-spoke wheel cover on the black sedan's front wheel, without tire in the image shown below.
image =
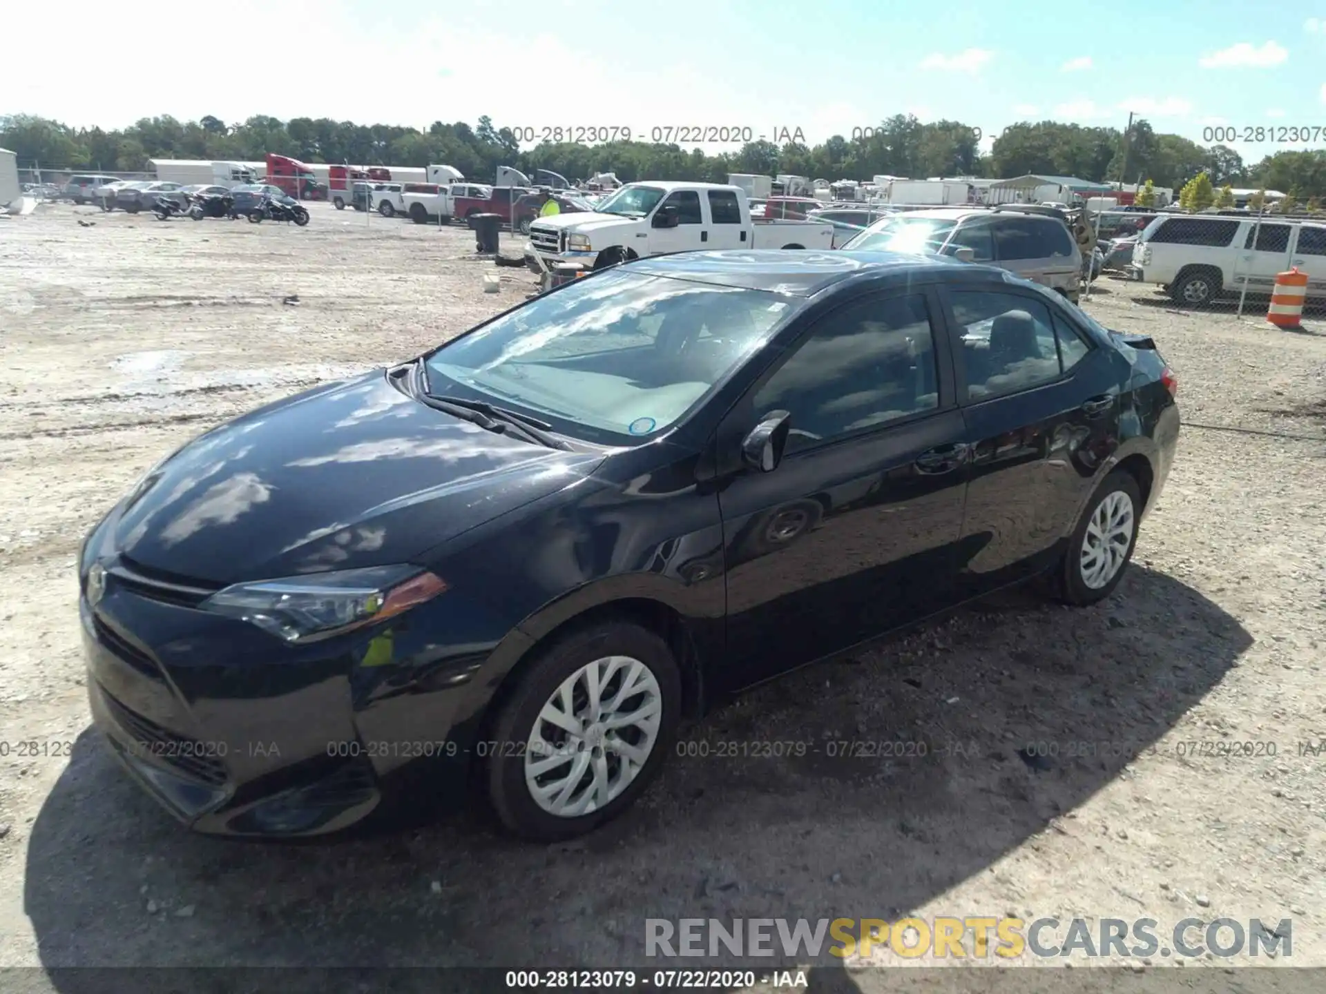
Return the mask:
<path fill-rule="evenodd" d="M 572 673 L 544 704 L 525 744 L 525 786 L 544 811 L 578 818 L 618 798 L 658 742 L 663 693 L 630 656 Z"/>

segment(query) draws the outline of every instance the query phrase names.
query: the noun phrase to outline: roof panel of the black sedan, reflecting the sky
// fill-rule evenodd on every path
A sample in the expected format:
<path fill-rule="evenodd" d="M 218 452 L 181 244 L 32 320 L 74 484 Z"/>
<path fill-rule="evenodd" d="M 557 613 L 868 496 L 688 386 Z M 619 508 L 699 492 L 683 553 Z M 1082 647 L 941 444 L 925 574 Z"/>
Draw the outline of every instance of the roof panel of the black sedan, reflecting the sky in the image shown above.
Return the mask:
<path fill-rule="evenodd" d="M 728 249 L 676 252 L 627 262 L 630 272 L 674 280 L 770 290 L 790 297 L 813 297 L 837 284 L 870 276 L 895 276 L 899 282 L 920 276 L 944 276 L 979 282 L 1002 281 L 994 266 L 963 262 L 948 256 L 904 252 L 793 252 L 788 249 Z M 972 276 L 963 276 L 971 273 Z"/>

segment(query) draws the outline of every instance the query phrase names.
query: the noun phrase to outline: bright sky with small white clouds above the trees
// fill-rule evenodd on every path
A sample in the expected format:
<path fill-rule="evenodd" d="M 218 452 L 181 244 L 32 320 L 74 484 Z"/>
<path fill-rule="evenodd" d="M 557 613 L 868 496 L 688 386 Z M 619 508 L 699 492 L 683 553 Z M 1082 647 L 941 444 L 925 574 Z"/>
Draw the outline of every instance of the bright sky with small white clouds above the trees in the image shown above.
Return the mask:
<path fill-rule="evenodd" d="M 1326 131 L 1326 1 L 457 7 L 228 0 L 229 25 L 280 27 L 293 42 L 288 52 L 245 54 L 237 37 L 200 53 L 190 44 L 110 42 L 90 29 L 38 36 L 5 46 L 0 113 L 102 126 L 257 113 L 427 126 L 487 113 L 536 130 L 700 125 L 772 137 L 801 129 L 810 143 L 908 111 L 971 123 L 987 144 L 1020 119 L 1122 127 L 1130 110 L 1158 131 L 1203 143 L 1209 127 Z M 1099 29 L 1087 27 L 1093 15 Z M 105 16 L 102 3 L 61 4 L 62 23 Z M 126 57 L 135 48 L 141 57 Z M 1229 144 L 1245 159 L 1305 147 Z"/>

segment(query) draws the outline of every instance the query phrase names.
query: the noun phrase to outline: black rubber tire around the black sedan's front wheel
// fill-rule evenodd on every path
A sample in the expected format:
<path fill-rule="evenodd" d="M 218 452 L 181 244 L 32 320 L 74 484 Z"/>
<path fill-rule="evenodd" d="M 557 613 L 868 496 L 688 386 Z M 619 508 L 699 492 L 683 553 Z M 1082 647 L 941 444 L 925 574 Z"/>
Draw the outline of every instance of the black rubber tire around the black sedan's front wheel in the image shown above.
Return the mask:
<path fill-rule="evenodd" d="M 610 663 L 609 657 L 626 657 L 629 661 Z M 621 681 L 633 676 L 634 685 L 642 690 L 619 701 L 626 705 L 625 710 L 643 710 L 651 698 L 656 702 L 654 738 L 634 778 L 627 775 L 625 755 L 613 742 L 631 747 L 644 745 L 647 730 L 643 726 L 629 724 L 615 732 L 610 730 L 606 738 L 601 738 L 603 730 L 591 724 L 585 729 L 583 737 L 573 737 L 540 721 L 540 712 L 545 705 L 553 704 L 554 694 L 564 683 L 595 664 L 606 677 L 602 685 L 605 704 L 625 689 Z M 577 716 L 590 713 L 582 681 L 575 685 L 573 700 L 573 712 Z M 492 726 L 493 733 L 489 738 L 493 742 L 514 742 L 520 744 L 518 747 L 496 747 L 481 759 L 488 799 L 499 820 L 512 834 L 537 842 L 570 839 L 611 820 L 635 802 L 672 751 L 680 709 L 682 675 L 676 660 L 667 643 L 646 628 L 626 620 L 606 619 L 575 630 L 549 644 L 538 651 L 529 668 L 520 676 L 520 683 L 501 706 Z M 548 755 L 528 747 L 536 730 L 540 732 L 540 741 L 549 742 L 557 750 L 554 754 Z M 550 738 L 557 741 L 549 741 Z M 564 758 L 565 762 L 558 762 Z M 586 753 L 589 755 L 582 759 Z M 554 814 L 536 801 L 526 783 L 526 765 L 537 763 L 541 758 L 542 762 L 552 763 L 548 770 L 538 774 L 544 786 L 561 779 L 572 787 L 570 799 L 578 799 L 581 807 L 587 806 L 590 795 L 597 789 L 593 775 L 598 769 L 602 769 L 609 786 L 617 787 L 619 793 L 587 814 L 575 814 L 577 806 L 570 806 L 566 814 Z M 595 763 L 595 759 L 602 766 Z M 579 774 L 575 773 L 577 765 L 581 765 Z M 585 782 L 585 777 L 591 778 L 589 783 Z M 614 783 L 615 777 L 626 779 Z M 545 803 L 554 806 L 556 797 Z M 595 799 L 595 803 L 601 802 Z"/>

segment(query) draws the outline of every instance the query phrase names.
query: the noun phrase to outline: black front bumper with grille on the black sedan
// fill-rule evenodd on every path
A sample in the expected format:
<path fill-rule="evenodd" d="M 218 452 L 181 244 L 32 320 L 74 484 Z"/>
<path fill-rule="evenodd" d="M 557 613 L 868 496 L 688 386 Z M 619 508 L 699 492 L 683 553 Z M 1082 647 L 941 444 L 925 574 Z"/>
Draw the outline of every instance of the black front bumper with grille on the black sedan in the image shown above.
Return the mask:
<path fill-rule="evenodd" d="M 130 775 L 196 831 L 335 832 L 400 801 L 420 775 L 430 802 L 464 798 L 460 690 L 408 687 L 390 632 L 293 648 L 114 575 L 95 606 L 80 594 L 80 616 L 94 724 Z M 415 627 L 436 639 L 428 620 Z M 383 635 L 386 664 L 371 655 Z M 411 644 L 395 635 L 395 649 Z M 400 684 L 415 692 L 396 693 Z"/>

